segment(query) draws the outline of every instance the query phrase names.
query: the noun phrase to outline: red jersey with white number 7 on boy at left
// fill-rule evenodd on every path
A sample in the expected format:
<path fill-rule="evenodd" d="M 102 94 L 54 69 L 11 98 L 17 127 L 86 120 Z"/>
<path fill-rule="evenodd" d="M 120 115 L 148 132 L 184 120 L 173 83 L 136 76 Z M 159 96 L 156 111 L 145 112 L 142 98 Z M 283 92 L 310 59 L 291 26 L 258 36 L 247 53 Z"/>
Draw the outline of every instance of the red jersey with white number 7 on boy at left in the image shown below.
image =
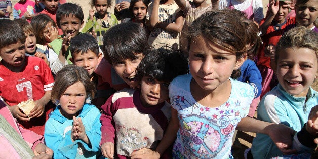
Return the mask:
<path fill-rule="evenodd" d="M 38 100 L 45 91 L 51 91 L 54 84 L 49 66 L 38 57 L 25 56 L 25 68 L 21 72 L 12 72 L 0 62 L 0 98 L 10 106 L 28 99 Z M 30 121 L 19 121 L 26 129 L 39 135 L 44 133 L 44 124 L 48 119 L 52 105 L 45 106 L 41 117 Z"/>

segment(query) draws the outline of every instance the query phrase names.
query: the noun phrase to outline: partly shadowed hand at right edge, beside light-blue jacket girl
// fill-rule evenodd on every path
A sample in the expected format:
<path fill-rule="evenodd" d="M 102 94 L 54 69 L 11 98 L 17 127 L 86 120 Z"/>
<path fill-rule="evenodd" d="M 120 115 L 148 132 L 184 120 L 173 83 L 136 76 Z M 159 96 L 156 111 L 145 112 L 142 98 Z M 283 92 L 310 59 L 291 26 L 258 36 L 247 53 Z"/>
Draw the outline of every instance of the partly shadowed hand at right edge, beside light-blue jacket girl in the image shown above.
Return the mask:
<path fill-rule="evenodd" d="M 314 106 L 310 110 L 306 130 L 311 135 L 318 136 L 318 105 Z"/>

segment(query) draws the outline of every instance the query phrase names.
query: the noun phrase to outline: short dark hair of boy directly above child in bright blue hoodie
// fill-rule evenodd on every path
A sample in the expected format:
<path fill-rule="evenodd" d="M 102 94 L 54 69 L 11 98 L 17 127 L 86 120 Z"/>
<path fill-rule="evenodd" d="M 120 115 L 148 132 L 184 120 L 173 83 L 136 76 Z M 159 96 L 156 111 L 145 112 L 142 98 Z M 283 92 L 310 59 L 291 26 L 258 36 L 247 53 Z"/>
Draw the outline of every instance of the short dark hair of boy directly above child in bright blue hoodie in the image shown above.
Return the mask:
<path fill-rule="evenodd" d="M 98 56 L 99 54 L 99 46 L 96 39 L 90 35 L 89 33 L 78 34 L 74 38 L 71 39 L 70 51 L 71 56 L 74 58 L 74 54 L 82 52 L 87 53 L 89 50 Z"/>

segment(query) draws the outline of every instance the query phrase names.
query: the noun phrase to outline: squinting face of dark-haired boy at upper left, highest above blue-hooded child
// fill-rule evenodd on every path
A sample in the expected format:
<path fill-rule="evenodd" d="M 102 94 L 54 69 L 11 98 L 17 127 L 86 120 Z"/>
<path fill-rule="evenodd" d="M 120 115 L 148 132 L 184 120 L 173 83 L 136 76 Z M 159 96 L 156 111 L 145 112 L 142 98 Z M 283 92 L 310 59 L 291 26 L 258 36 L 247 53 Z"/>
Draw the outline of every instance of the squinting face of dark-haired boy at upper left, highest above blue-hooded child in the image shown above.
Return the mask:
<path fill-rule="evenodd" d="M 63 31 L 63 34 L 66 36 L 67 34 L 71 35 L 71 38 L 75 37 L 79 33 L 79 29 L 82 28 L 84 21 L 81 21 L 79 18 L 75 17 L 73 14 L 69 14 L 68 16 L 61 16 L 61 20 L 59 22 L 59 26 Z"/>

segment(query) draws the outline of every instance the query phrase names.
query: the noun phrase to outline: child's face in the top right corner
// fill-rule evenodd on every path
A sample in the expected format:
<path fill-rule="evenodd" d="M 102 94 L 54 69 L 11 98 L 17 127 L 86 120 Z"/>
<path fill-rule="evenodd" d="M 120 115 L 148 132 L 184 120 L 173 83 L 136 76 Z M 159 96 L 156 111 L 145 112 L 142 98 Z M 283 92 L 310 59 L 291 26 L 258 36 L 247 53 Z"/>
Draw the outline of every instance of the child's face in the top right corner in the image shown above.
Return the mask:
<path fill-rule="evenodd" d="M 296 20 L 300 25 L 312 28 L 318 17 L 318 0 L 309 0 L 296 7 Z"/>

